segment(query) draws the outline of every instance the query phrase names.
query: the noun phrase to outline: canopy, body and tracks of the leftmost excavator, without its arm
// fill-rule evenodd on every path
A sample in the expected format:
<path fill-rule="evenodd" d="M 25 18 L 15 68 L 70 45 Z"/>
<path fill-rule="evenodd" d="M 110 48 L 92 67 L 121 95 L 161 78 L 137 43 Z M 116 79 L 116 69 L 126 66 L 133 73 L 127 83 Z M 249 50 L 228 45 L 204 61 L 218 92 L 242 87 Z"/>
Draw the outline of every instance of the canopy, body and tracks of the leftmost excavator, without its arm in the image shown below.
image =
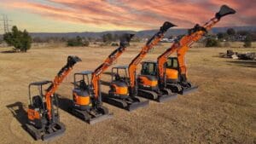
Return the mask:
<path fill-rule="evenodd" d="M 52 84 L 51 81 L 42 81 L 34 82 L 28 86 L 29 106 L 27 110 L 28 124 L 26 124 L 26 130 L 28 130 L 35 140 L 46 140 L 55 135 L 61 135 L 65 131 L 64 125 L 60 123 L 56 95 L 51 99 L 51 103 L 55 103 L 55 107 L 52 105 L 52 121 L 54 125 L 46 128 L 49 122 L 44 91 Z M 32 96 L 36 88 L 38 88 L 38 94 Z"/>

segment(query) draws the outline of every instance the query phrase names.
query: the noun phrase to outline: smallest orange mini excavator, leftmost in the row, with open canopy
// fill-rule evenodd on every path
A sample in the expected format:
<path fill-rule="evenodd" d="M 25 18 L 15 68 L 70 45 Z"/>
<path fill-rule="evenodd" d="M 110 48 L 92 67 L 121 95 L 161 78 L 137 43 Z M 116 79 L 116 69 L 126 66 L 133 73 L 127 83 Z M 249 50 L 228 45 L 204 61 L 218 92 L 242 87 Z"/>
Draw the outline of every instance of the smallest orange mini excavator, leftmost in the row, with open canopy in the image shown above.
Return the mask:
<path fill-rule="evenodd" d="M 81 61 L 79 57 L 68 56 L 67 65 L 61 68 L 61 71 L 58 72 L 53 81 L 29 84 L 30 104 L 27 110 L 28 121 L 25 126 L 35 140 L 49 140 L 65 131 L 64 124 L 60 122 L 58 107 L 54 107 L 54 103 L 58 104 L 55 91 L 78 61 Z M 32 86 L 38 87 L 38 95 L 31 96 Z M 44 88 L 47 88 L 45 94 Z"/>

